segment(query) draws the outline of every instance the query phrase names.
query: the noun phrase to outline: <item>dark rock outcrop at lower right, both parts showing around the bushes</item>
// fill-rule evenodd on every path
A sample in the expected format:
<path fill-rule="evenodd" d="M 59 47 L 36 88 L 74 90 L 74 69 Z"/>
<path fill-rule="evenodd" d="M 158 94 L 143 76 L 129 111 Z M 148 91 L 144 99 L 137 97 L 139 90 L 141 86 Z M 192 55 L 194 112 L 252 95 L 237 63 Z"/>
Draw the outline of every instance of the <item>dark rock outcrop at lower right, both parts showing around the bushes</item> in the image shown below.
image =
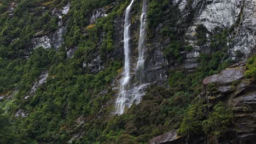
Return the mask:
<path fill-rule="evenodd" d="M 219 74 L 203 80 L 202 95 L 210 110 L 220 101 L 228 104 L 235 115 L 234 127 L 220 136 L 218 143 L 255 143 L 256 141 L 256 81 L 245 77 L 246 61 L 231 65 Z M 207 143 L 205 136 L 189 139 L 171 131 L 150 140 L 156 143 Z"/>

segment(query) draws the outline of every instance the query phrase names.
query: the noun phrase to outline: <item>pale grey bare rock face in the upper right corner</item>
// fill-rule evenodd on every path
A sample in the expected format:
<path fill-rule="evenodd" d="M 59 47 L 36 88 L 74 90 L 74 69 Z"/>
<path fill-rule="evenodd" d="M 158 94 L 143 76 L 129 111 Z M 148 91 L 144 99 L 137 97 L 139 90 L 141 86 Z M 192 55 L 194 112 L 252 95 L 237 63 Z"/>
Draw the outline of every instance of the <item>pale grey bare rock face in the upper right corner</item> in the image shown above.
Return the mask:
<path fill-rule="evenodd" d="M 181 10 L 181 22 L 191 21 L 185 31 L 185 41 L 193 46 L 192 53 L 210 53 L 211 35 L 220 32 L 222 29 L 231 29 L 232 34 L 226 39 L 230 58 L 237 59 L 237 52 L 242 57 L 247 57 L 256 45 L 256 2 L 251 0 L 175 0 Z M 203 25 L 208 30 L 205 45 L 197 45 L 196 27 Z M 184 68 L 197 67 L 196 57 L 187 53 Z"/>

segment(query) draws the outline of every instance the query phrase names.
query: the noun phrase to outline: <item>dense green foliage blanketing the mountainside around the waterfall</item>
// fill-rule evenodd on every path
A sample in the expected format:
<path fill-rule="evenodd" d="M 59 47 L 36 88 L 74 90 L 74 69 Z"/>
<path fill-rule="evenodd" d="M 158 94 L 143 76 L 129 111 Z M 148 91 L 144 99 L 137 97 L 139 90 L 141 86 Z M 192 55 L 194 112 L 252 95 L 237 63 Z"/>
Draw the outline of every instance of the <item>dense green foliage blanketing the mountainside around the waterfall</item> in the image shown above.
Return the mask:
<path fill-rule="evenodd" d="M 52 12 L 61 10 L 67 2 L 17 0 L 10 12 L 13 15 L 9 15 L 12 3 L 0 0 L 0 96 L 4 95 L 0 101 L 4 109 L 0 113 L 0 143 L 65 143 L 75 135 L 80 139 L 73 143 L 148 143 L 173 129 L 179 129 L 181 135 L 203 134 L 203 130 L 212 134 L 207 125 L 218 125 L 225 112 L 229 114 L 220 112 L 224 108 L 219 104 L 207 118 L 205 101 L 197 97 L 206 76 L 233 63 L 226 55 L 228 30 L 211 35 L 211 53 L 200 53 L 200 65 L 193 72 L 167 68 L 167 87 L 150 86 L 140 104 L 132 105 L 124 115 L 113 116 L 118 93 L 113 80 L 122 70 L 121 58 L 113 56 L 114 26 L 130 1 L 71 1 L 69 13 L 62 18 L 67 27 L 63 45 L 58 50 L 31 49 L 34 34 L 51 34 L 57 29 L 60 20 Z M 101 7 L 108 15 L 90 23 L 91 11 Z M 141 7 L 142 1 L 135 1 L 132 25 L 137 25 Z M 184 62 L 183 51 L 193 49 L 184 42 L 183 26 L 177 25 L 180 17 L 171 1 L 149 1 L 147 39 L 149 43 L 169 41 L 163 51 L 171 67 Z M 198 45 L 205 44 L 206 28 L 200 25 L 196 32 Z M 66 49 L 74 47 L 74 57 L 68 58 Z M 95 53 L 104 69 L 91 73 L 86 64 Z M 247 75 L 253 77 L 255 57 L 252 59 Z M 31 94 L 34 83 L 46 71 L 47 81 Z M 13 97 L 8 99 L 6 95 L 11 92 Z M 19 110 L 28 115 L 15 117 Z M 216 132 L 212 135 L 222 134 L 227 123 L 218 125 L 222 131 L 211 129 Z"/>

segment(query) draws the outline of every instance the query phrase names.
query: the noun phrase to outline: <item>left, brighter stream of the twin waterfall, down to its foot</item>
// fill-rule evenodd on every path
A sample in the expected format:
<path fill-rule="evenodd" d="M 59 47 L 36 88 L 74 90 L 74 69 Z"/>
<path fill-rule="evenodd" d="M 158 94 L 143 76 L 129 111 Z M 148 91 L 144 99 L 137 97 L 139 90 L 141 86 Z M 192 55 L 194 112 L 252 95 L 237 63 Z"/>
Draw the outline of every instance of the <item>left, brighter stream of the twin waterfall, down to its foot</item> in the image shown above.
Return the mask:
<path fill-rule="evenodd" d="M 125 24 L 124 24 L 124 53 L 125 53 L 125 67 L 123 72 L 123 79 L 121 80 L 121 88 L 118 99 L 115 103 L 115 113 L 123 114 L 125 109 L 125 102 L 129 100 L 128 84 L 130 82 L 130 26 L 131 26 L 131 6 L 134 0 L 131 1 L 125 10 Z"/>

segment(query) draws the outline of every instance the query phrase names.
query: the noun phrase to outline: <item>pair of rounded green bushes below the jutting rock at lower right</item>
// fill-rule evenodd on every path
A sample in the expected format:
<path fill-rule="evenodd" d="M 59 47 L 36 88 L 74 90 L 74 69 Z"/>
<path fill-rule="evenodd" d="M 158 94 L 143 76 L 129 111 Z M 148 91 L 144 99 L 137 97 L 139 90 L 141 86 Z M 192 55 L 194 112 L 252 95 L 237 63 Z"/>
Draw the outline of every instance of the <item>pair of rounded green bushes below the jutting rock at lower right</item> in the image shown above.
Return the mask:
<path fill-rule="evenodd" d="M 206 134 L 218 140 L 232 125 L 234 115 L 225 103 L 220 102 L 213 107 L 213 111 L 208 113 L 208 117 L 206 117 L 208 107 L 203 105 L 203 101 L 197 98 L 194 103 L 191 103 L 178 134 L 188 137 Z"/>

